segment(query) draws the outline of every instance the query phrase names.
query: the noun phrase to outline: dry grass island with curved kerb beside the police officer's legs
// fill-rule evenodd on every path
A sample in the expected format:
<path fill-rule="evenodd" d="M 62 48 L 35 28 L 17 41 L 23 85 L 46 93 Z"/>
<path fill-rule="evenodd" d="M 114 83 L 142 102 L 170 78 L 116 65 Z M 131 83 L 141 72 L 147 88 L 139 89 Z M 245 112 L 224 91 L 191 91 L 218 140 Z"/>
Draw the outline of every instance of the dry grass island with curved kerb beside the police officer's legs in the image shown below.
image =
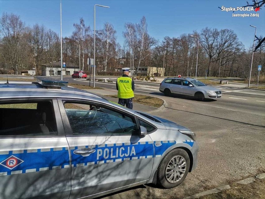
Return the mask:
<path fill-rule="evenodd" d="M 107 97 L 115 97 L 118 98 L 117 95 L 106 95 Z M 143 104 L 151 107 L 159 108 L 164 103 L 163 100 L 157 97 L 151 97 L 146 95 L 134 95 L 133 102 L 138 104 Z"/>

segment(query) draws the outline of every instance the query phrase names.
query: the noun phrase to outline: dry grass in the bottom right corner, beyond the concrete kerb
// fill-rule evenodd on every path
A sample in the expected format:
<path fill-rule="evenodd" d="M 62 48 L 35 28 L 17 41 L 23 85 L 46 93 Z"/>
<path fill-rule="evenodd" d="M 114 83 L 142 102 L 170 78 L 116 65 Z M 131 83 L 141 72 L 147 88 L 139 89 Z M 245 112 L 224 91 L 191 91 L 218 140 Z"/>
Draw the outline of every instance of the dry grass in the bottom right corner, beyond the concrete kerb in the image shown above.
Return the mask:
<path fill-rule="evenodd" d="M 230 185 L 230 189 L 200 197 L 199 199 L 264 199 L 265 198 L 265 180 L 255 179 L 249 184 Z"/>

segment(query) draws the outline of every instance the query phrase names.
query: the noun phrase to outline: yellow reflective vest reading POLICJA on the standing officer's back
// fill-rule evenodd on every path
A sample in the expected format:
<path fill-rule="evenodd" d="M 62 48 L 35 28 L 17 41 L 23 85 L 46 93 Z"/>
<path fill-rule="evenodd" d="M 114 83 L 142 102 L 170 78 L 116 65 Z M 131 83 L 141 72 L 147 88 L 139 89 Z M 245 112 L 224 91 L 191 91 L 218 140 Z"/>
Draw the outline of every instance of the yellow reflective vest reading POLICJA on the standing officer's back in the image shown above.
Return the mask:
<path fill-rule="evenodd" d="M 118 97 L 120 99 L 130 99 L 134 97 L 132 90 L 132 79 L 129 77 L 119 77 L 117 79 L 118 84 Z"/>

